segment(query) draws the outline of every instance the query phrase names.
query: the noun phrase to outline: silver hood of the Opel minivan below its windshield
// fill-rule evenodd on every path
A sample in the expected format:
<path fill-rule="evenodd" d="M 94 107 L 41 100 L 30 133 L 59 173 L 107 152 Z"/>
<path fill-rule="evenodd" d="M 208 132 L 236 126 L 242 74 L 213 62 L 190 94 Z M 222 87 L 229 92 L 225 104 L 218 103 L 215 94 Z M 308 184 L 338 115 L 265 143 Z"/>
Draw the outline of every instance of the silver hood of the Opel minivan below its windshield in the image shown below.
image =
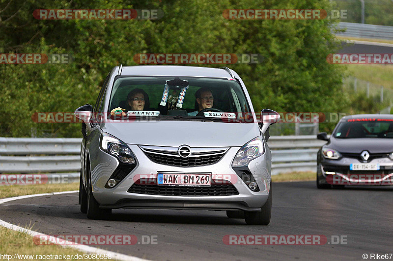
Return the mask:
<path fill-rule="evenodd" d="M 138 121 L 110 122 L 101 125 L 109 133 L 127 144 L 190 147 L 243 146 L 259 136 L 254 123 L 223 123 L 196 121 Z"/>

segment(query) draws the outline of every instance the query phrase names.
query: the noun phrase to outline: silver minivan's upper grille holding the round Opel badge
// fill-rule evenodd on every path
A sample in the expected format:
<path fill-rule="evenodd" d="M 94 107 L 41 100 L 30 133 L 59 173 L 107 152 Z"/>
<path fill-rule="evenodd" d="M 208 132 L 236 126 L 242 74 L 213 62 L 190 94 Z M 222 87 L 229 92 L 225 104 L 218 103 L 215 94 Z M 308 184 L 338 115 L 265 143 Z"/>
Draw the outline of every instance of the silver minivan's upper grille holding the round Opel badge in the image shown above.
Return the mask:
<path fill-rule="evenodd" d="M 170 156 L 170 155 L 162 155 L 151 152 L 144 151 L 146 156 L 153 162 L 169 165 L 169 166 L 205 166 L 215 164 L 224 156 L 224 153 L 220 153 L 217 155 L 208 155 L 208 156 L 199 156 L 199 157 L 189 157 L 189 158 L 181 158 L 178 156 Z"/>

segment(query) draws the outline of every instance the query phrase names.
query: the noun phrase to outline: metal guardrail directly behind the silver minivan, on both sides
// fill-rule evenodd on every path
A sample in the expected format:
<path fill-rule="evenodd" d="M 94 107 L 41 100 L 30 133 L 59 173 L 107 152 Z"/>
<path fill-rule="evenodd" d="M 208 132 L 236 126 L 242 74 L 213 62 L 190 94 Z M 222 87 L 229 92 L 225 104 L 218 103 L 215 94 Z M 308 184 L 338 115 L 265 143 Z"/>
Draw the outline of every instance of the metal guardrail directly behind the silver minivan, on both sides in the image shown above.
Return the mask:
<path fill-rule="evenodd" d="M 68 172 L 68 177 L 78 178 L 81 141 L 74 138 L 0 138 L 0 173 Z M 272 175 L 315 171 L 316 152 L 324 143 L 314 135 L 271 136 L 268 144 L 272 150 Z"/>

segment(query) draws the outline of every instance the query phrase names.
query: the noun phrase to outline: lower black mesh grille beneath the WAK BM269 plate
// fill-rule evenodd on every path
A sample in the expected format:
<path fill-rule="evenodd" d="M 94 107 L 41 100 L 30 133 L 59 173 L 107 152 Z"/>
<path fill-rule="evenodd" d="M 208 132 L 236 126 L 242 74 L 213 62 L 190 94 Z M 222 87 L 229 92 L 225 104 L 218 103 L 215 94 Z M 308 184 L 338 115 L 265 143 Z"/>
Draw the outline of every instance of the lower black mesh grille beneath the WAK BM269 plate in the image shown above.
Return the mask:
<path fill-rule="evenodd" d="M 128 189 L 129 193 L 160 195 L 160 196 L 233 196 L 239 192 L 232 184 L 212 184 L 211 187 L 167 187 L 156 184 L 134 184 Z"/>

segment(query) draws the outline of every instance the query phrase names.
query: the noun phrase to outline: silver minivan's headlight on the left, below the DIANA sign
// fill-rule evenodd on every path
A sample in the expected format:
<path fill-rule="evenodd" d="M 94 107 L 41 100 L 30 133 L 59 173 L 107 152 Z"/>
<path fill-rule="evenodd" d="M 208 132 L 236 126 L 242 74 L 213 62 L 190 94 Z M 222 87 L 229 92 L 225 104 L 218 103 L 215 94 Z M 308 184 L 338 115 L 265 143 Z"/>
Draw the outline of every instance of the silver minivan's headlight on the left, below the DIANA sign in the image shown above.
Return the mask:
<path fill-rule="evenodd" d="M 101 149 L 118 158 L 123 163 L 136 164 L 135 156 L 126 143 L 104 133 L 100 139 Z"/>

